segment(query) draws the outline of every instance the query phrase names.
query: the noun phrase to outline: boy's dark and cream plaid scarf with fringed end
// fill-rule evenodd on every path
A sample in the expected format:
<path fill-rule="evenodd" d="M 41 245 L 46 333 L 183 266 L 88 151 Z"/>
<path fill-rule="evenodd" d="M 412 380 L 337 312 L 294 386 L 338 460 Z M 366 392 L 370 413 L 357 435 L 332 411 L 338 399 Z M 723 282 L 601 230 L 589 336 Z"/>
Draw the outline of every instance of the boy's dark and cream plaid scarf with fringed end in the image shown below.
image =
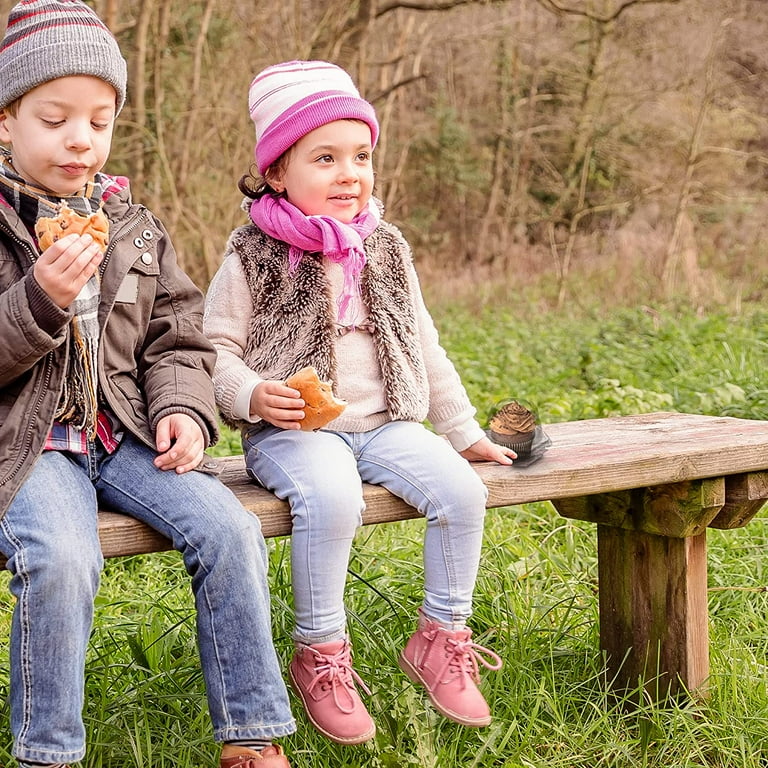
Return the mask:
<path fill-rule="evenodd" d="M 35 222 L 43 216 L 55 216 L 59 204 L 65 200 L 72 210 L 85 215 L 97 211 L 106 188 L 114 182 L 109 176 L 97 173 L 93 181 L 83 187 L 80 195 L 60 198 L 45 189 L 27 184 L 16 173 L 9 152 L 0 154 L 0 193 L 34 232 Z M 96 436 L 98 417 L 99 351 L 98 308 L 101 288 L 98 272 L 83 286 L 72 302 L 71 333 L 69 334 L 69 362 L 64 378 L 64 389 L 55 414 L 57 421 L 71 424 Z"/>

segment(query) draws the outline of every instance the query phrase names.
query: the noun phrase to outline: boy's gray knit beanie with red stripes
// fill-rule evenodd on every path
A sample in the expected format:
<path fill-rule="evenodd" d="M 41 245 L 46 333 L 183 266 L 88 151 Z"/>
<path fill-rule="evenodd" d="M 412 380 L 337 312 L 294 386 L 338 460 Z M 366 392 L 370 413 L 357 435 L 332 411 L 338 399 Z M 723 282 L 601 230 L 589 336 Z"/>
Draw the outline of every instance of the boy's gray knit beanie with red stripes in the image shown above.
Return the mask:
<path fill-rule="evenodd" d="M 125 59 L 112 33 L 80 0 L 22 0 L 8 15 L 0 43 L 0 109 L 38 85 L 68 75 L 93 75 L 125 103 Z"/>

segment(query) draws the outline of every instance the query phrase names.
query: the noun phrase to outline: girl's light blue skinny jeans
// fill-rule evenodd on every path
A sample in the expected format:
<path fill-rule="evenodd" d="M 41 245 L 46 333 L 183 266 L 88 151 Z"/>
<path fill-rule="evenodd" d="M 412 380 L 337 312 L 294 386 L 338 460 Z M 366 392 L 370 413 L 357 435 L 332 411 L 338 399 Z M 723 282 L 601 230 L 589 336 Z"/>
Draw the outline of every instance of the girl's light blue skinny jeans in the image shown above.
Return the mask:
<path fill-rule="evenodd" d="M 424 613 L 451 627 L 472 612 L 487 490 L 450 444 L 423 425 L 395 421 L 370 432 L 302 432 L 272 426 L 245 436 L 252 477 L 293 516 L 294 638 L 343 636 L 344 586 L 363 482 L 382 485 L 426 519 Z"/>

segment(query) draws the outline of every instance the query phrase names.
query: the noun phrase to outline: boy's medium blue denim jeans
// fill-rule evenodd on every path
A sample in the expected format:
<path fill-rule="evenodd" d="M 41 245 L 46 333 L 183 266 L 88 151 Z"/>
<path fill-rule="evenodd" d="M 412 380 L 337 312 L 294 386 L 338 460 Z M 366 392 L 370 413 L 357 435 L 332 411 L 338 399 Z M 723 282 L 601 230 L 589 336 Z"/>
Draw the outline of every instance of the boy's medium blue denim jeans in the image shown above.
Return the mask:
<path fill-rule="evenodd" d="M 295 730 L 272 644 L 267 554 L 258 518 L 218 479 L 155 468 L 126 436 L 109 455 L 45 452 L 0 521 L 13 574 L 14 755 L 71 763 L 85 753 L 85 654 L 103 565 L 97 508 L 143 520 L 173 542 L 192 577 L 200 660 L 217 741 Z"/>

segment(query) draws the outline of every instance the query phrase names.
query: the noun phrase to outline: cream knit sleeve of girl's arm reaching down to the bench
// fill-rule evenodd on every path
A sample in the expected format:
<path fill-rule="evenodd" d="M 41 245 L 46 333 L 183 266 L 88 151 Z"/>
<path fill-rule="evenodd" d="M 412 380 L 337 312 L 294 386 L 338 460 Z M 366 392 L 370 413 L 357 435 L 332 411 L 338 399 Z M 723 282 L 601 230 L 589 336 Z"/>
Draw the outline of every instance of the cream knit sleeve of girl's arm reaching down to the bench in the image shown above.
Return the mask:
<path fill-rule="evenodd" d="M 475 408 L 461 383 L 458 371 L 440 344 L 437 328 L 424 304 L 415 270 L 411 272 L 411 281 L 429 383 L 427 418 L 438 434 L 445 435 L 457 451 L 463 451 L 485 437 L 485 432 L 475 419 Z"/>

